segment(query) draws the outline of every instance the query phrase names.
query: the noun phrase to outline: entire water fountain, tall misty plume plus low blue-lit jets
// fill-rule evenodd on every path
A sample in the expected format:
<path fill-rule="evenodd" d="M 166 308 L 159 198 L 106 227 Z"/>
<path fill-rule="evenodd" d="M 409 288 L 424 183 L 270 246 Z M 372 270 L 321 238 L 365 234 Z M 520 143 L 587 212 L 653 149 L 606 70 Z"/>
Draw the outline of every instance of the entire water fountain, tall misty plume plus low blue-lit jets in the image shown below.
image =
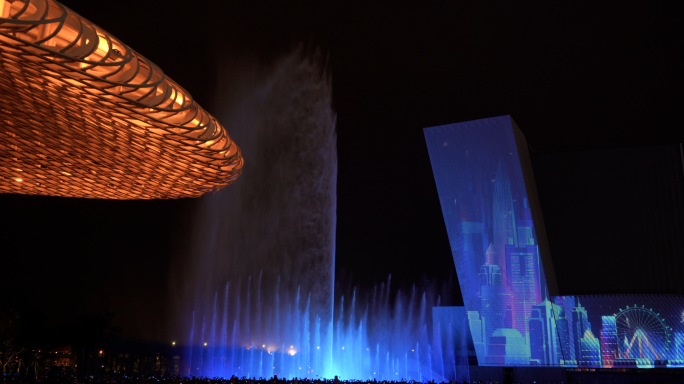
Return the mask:
<path fill-rule="evenodd" d="M 182 373 L 447 378 L 432 332 L 438 290 L 403 295 L 388 279 L 333 292 L 337 154 L 322 57 L 300 49 L 221 68 L 215 109 L 245 167 L 198 200 L 189 255 L 172 271 Z"/>

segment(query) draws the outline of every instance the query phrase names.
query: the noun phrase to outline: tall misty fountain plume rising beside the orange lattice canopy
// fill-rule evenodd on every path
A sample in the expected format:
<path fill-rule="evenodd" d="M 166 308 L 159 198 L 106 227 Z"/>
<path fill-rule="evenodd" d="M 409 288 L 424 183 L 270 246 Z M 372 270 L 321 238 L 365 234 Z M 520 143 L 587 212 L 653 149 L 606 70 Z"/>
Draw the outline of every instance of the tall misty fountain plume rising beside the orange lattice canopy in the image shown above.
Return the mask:
<path fill-rule="evenodd" d="M 337 152 L 324 58 L 300 49 L 220 65 L 214 109 L 249 171 L 198 200 L 172 271 L 173 329 L 192 356 L 183 370 L 229 376 L 249 361 L 240 373 L 270 376 L 280 356 L 290 371 L 332 371 Z M 210 357 L 221 363 L 207 370 Z"/>

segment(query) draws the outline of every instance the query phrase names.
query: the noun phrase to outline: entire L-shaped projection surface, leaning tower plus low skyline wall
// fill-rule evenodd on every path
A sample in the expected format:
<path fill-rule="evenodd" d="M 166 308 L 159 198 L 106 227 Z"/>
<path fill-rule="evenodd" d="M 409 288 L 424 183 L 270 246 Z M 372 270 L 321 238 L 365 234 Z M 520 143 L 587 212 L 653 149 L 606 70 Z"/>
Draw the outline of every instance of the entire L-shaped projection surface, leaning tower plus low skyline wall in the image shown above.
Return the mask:
<path fill-rule="evenodd" d="M 478 364 L 683 366 L 682 298 L 549 296 L 514 129 L 424 130 Z"/>

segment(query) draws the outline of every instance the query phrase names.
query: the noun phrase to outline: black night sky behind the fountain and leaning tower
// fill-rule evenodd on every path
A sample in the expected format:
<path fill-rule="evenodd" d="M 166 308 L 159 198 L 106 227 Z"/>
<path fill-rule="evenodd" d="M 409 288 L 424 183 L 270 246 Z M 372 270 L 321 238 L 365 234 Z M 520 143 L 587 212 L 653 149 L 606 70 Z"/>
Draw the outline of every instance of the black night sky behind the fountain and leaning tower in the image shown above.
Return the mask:
<path fill-rule="evenodd" d="M 258 56 L 268 62 L 298 44 L 325 52 L 338 113 L 336 267 L 361 284 L 392 273 L 393 281 L 408 285 L 423 276 L 445 279 L 454 271 L 424 127 L 513 117 L 533 151 L 562 294 L 634 293 L 633 279 L 644 267 L 632 262 L 636 256 L 625 262 L 620 255 L 625 248 L 620 244 L 632 233 L 626 229 L 634 229 L 629 222 L 634 216 L 624 215 L 626 222 L 610 215 L 650 208 L 639 206 L 634 194 L 620 191 L 639 185 L 649 201 L 684 197 L 677 189 L 682 184 L 681 163 L 658 168 L 653 176 L 652 168 L 632 173 L 638 164 L 610 163 L 596 151 L 585 152 L 589 157 L 563 155 L 684 141 L 678 113 L 684 67 L 681 2 L 587 7 L 480 2 L 63 3 L 159 65 L 212 113 L 217 58 Z M 650 158 L 637 152 L 614 153 Z M 676 154 L 668 159 L 676 159 Z M 651 191 L 641 182 L 649 175 L 676 188 Z M 621 180 L 620 188 L 611 180 Z M 602 210 L 597 201 L 614 202 L 615 208 Z M 192 227 L 194 205 L 188 199 L 131 202 L 0 195 L 3 296 L 59 321 L 108 306 L 124 335 L 163 339 L 167 289 L 173 284 L 168 270 L 173 258 L 183 256 L 183 236 Z M 684 256 L 682 227 L 668 224 L 681 223 L 677 215 L 684 211 L 681 204 L 668 207 L 653 208 L 647 217 L 642 215 L 646 219 L 635 219 L 635 225 L 644 228 L 661 223 L 662 228 L 637 232 L 642 234 L 640 246 L 664 244 L 642 247 L 644 258 L 663 270 L 670 265 L 668 259 Z M 593 214 L 596 220 L 588 217 Z M 614 223 L 615 229 L 603 233 L 585 225 L 588 222 Z M 588 236 L 591 231 L 603 234 Z M 601 273 L 598 280 L 594 274 L 590 284 L 582 274 L 559 271 L 558 265 L 574 265 L 575 273 L 597 259 L 605 265 L 620 263 L 620 270 Z M 684 293 L 684 283 L 649 285 L 658 271 L 651 270 L 640 289 Z"/>

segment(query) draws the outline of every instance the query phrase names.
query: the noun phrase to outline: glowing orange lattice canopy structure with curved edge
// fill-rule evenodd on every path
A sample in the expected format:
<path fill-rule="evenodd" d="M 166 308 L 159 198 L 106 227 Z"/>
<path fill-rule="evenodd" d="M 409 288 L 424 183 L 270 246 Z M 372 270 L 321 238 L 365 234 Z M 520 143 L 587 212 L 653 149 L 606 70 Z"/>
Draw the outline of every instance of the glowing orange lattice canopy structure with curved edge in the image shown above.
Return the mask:
<path fill-rule="evenodd" d="M 54 0 L 0 0 L 0 192 L 197 197 L 240 149 L 149 60 Z"/>

